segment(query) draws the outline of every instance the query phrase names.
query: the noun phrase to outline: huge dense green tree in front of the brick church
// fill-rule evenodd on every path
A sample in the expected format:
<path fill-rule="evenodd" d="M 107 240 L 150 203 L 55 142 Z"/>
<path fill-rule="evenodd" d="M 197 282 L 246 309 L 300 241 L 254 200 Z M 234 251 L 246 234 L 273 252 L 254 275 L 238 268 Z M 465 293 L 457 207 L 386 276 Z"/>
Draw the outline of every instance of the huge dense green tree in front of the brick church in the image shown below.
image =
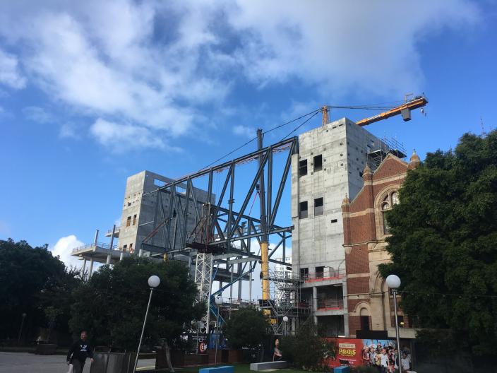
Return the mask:
<path fill-rule="evenodd" d="M 472 353 L 497 343 L 497 131 L 465 134 L 409 171 L 387 219 L 401 307 L 426 328 L 464 335 Z"/>

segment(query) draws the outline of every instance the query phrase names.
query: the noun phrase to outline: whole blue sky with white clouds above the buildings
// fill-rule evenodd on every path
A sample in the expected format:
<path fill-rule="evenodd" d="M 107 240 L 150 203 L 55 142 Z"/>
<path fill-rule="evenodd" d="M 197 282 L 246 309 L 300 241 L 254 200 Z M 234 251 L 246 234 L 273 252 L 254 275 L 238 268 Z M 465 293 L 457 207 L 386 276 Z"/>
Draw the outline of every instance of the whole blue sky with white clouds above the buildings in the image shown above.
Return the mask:
<path fill-rule="evenodd" d="M 426 117 L 369 126 L 421 158 L 496 126 L 495 0 L 78 3 L 0 4 L 0 239 L 64 259 L 129 175 L 193 172 L 323 104 L 424 92 Z"/>

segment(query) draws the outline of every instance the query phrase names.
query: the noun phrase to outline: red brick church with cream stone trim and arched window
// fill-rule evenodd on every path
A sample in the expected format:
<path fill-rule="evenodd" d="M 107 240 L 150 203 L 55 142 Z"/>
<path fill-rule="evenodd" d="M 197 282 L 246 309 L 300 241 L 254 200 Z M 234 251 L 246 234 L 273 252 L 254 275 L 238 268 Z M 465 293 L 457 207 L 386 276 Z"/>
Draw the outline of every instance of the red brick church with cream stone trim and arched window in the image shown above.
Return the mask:
<path fill-rule="evenodd" d="M 392 295 L 378 273 L 378 264 L 390 261 L 384 213 L 398 203 L 407 170 L 419 164 L 414 152 L 409 163 L 390 153 L 374 172 L 366 165 L 361 191 L 352 201 L 346 196 L 342 203 L 349 337 L 395 338 Z M 414 338 L 411 320 L 402 309 L 398 317 L 400 337 Z"/>

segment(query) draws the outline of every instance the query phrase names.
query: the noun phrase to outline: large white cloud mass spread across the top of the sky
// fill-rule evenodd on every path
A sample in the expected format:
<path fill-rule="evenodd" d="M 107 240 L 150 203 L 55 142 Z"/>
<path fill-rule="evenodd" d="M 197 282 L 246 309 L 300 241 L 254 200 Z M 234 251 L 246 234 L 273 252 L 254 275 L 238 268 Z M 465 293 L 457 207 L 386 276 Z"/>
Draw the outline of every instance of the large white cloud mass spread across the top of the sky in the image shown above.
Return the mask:
<path fill-rule="evenodd" d="M 479 17 L 466 0 L 7 1 L 0 85 L 36 85 L 88 117 L 104 146 L 121 134 L 164 148 L 205 125 L 203 107 L 222 106 L 236 84 L 298 81 L 335 96 L 417 91 L 420 42 Z"/>

